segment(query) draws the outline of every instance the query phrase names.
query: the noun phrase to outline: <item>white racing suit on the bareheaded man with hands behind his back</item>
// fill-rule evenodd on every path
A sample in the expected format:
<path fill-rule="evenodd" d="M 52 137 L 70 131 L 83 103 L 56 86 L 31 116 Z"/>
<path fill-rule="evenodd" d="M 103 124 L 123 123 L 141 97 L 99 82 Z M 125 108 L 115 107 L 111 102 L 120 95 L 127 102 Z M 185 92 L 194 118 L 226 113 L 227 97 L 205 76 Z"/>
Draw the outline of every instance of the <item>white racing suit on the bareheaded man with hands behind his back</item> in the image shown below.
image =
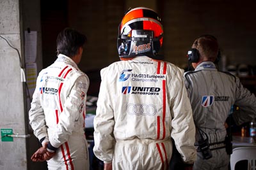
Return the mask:
<path fill-rule="evenodd" d="M 89 79 L 65 55 L 40 71 L 33 94 L 29 123 L 42 144 L 56 155 L 48 169 L 89 169 L 84 135 L 86 93 Z"/>

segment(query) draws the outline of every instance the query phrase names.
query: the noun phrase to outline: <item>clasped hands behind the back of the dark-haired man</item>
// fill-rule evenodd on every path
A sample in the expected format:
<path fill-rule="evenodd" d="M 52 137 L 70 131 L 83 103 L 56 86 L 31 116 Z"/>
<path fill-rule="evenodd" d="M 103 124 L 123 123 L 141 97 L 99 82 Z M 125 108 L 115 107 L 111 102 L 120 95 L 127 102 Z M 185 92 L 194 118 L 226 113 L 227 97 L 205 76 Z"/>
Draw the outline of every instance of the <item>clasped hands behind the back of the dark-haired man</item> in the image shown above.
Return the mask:
<path fill-rule="evenodd" d="M 32 155 L 31 160 L 33 162 L 44 162 L 45 160 L 51 159 L 55 155 L 55 152 L 51 153 L 47 150 L 47 143 L 44 146 L 36 150 Z"/>

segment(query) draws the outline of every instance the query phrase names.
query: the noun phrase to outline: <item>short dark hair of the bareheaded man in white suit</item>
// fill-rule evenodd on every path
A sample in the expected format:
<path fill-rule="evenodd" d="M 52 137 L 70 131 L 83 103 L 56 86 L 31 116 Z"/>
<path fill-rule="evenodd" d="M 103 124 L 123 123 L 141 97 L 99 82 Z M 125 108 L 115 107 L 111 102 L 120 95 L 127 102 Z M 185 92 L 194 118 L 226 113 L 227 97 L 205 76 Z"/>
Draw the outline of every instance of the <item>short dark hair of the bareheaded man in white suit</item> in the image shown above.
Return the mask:
<path fill-rule="evenodd" d="M 79 47 L 86 43 L 87 38 L 83 34 L 71 28 L 65 28 L 58 34 L 56 39 L 57 52 L 68 57 L 73 57 L 77 54 Z"/>

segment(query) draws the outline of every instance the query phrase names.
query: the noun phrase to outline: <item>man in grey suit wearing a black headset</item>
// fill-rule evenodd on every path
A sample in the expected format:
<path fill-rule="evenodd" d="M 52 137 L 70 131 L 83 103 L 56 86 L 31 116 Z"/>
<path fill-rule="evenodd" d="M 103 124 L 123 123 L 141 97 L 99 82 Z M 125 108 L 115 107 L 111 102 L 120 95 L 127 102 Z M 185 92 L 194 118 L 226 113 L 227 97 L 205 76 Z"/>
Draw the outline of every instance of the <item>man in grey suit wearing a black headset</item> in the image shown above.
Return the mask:
<path fill-rule="evenodd" d="M 196 125 L 195 170 L 228 169 L 232 144 L 225 121 L 232 105 L 239 106 L 243 112 L 232 114 L 237 125 L 255 117 L 254 94 L 243 87 L 239 78 L 218 71 L 215 64 L 219 59 L 218 42 L 211 35 L 197 38 L 188 52 L 188 60 L 195 68 L 184 74 Z"/>

